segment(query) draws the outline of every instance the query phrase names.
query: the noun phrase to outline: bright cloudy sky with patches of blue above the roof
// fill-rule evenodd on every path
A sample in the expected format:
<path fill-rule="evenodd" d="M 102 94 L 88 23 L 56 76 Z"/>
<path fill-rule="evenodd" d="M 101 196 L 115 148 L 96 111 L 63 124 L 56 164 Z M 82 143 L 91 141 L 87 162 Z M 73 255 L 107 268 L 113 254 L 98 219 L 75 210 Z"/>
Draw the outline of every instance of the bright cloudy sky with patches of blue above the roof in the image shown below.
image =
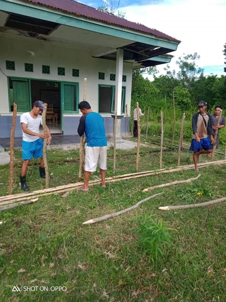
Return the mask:
<path fill-rule="evenodd" d="M 100 0 L 82 0 L 97 8 Z M 116 0 L 117 3 L 117 0 Z M 150 28 L 180 40 L 172 52 L 170 70 L 178 71 L 176 60 L 185 54 L 200 55 L 197 65 L 204 75 L 225 75 L 223 71 L 223 45 L 226 43 L 226 0 L 120 0 L 120 8 L 127 20 L 142 23 Z M 165 64 L 158 65 L 159 74 L 165 74 Z M 158 76 L 157 75 L 157 76 Z"/>

